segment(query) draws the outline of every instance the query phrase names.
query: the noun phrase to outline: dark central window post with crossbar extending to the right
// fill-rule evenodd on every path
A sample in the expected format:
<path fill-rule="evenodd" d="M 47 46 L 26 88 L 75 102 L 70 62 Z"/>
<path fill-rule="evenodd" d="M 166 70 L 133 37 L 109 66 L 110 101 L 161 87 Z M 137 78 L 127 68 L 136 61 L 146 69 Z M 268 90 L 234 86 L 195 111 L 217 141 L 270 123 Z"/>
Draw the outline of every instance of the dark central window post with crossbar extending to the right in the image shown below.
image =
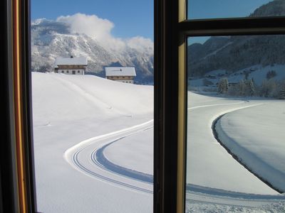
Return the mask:
<path fill-rule="evenodd" d="M 157 173 L 155 185 L 155 195 L 158 194 L 157 203 L 162 209 L 159 212 L 167 209 L 170 209 L 170 212 L 185 212 L 187 38 L 212 35 L 285 34 L 284 16 L 187 20 L 187 1 L 191 0 L 156 1 L 155 70 L 162 72 L 155 73 L 158 75 L 155 78 L 157 95 L 155 134 L 160 133 L 155 135 L 157 138 L 155 168 L 162 170 Z M 170 118 L 174 114 L 175 122 L 171 122 Z M 169 153 L 173 155 L 169 156 Z M 176 173 L 170 175 L 167 171 Z M 170 195 L 171 193 L 175 196 Z M 176 202 L 173 202 L 174 200 Z"/>

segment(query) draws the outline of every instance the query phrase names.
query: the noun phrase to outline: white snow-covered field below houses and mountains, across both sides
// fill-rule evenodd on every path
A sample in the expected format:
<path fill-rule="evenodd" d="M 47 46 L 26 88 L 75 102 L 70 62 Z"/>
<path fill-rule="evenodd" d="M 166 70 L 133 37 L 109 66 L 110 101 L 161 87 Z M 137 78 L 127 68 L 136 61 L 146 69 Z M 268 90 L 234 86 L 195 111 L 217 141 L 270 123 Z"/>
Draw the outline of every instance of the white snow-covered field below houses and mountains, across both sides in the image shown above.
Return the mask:
<path fill-rule="evenodd" d="M 153 87 L 89 75 L 33 72 L 32 78 L 38 211 L 152 212 Z M 261 136 L 256 138 L 247 125 L 266 129 L 259 113 L 266 114 L 262 107 L 270 106 L 276 114 L 267 128 L 284 126 L 285 102 L 194 93 L 188 98 L 187 212 L 284 212 L 284 195 L 234 160 L 211 128 L 214 119 L 228 113 L 220 119 L 234 121 L 220 125 L 227 136 L 233 133 L 235 143 L 258 159 L 268 160 L 274 152 L 279 157 L 268 165 L 284 173 L 284 133 L 272 133 L 276 140 L 264 155 L 268 140 L 259 141 Z M 259 111 L 255 116 L 254 109 Z M 239 112 L 247 122 L 242 127 Z M 249 124 L 248 114 L 260 125 Z M 231 131 L 237 125 L 244 128 L 242 136 L 252 138 L 252 146 L 244 146 L 239 131 Z"/>

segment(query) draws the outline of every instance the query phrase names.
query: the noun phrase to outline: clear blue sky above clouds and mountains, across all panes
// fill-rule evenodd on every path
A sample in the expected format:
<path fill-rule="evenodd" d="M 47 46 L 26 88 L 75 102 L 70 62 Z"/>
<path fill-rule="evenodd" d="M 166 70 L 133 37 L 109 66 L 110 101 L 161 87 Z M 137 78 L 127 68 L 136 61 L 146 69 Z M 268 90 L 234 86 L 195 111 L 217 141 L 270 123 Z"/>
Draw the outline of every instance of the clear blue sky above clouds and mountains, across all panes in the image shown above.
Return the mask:
<path fill-rule="evenodd" d="M 153 40 L 154 0 L 31 0 L 31 18 L 55 20 L 75 13 L 96 15 L 115 24 L 112 35 L 119 38 L 142 36 Z M 244 17 L 271 0 L 190 0 L 189 18 Z M 192 43 L 204 38 L 192 38 Z"/>

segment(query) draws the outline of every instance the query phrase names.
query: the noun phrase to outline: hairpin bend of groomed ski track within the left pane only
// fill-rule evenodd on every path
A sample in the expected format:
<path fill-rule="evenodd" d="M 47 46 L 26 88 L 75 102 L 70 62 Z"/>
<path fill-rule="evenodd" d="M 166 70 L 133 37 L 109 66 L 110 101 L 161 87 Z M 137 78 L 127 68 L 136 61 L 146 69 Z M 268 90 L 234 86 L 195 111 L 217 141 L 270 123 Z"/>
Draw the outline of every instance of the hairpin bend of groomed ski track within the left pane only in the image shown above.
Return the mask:
<path fill-rule="evenodd" d="M 74 168 L 93 178 L 113 183 L 121 187 L 127 187 L 130 190 L 152 193 L 152 188 L 149 183 L 138 183 L 139 181 L 134 179 L 132 181 L 128 181 L 130 178 L 118 175 L 118 173 L 115 173 L 112 170 L 107 170 L 100 163 L 97 163 L 96 160 L 93 160 L 92 157 L 94 150 L 98 151 L 98 149 L 105 147 L 110 143 L 114 143 L 115 141 L 119 141 L 127 136 L 150 129 L 152 126 L 153 120 L 150 120 L 142 124 L 121 129 L 120 131 L 114 131 L 101 136 L 89 138 L 86 141 L 81 141 L 81 143 L 76 144 L 76 146 L 68 148 L 64 153 L 64 158 Z M 80 158 L 79 155 L 81 155 L 81 153 L 83 153 L 83 156 Z"/>

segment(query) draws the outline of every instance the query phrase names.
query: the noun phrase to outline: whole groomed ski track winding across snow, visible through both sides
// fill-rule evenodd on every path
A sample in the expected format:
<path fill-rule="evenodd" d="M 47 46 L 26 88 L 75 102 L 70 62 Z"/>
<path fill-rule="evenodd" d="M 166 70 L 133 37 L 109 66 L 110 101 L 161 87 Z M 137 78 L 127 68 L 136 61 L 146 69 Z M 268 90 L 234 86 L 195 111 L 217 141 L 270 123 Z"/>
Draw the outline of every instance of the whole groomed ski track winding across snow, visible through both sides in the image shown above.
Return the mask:
<path fill-rule="evenodd" d="M 207 105 L 189 107 L 188 110 L 204 108 L 204 107 L 236 105 L 243 103 L 245 103 L 245 101 L 227 103 L 227 104 L 207 104 Z M 233 109 L 229 109 L 227 111 L 221 111 L 219 114 L 217 114 L 216 116 L 214 116 L 214 118 L 211 119 L 211 122 L 213 122 L 222 114 L 227 114 L 231 111 L 245 109 L 248 107 L 255 107 L 258 105 L 260 104 L 252 104 L 245 107 L 244 106 L 236 107 Z M 123 174 L 123 172 L 120 173 L 118 171 L 113 171 L 112 167 L 108 168 L 108 166 L 106 167 L 105 164 L 102 163 L 102 161 L 98 160 L 98 151 L 100 151 L 103 154 L 103 150 L 110 144 L 115 143 L 133 134 L 140 133 L 147 129 L 151 129 L 152 127 L 153 127 L 153 120 L 150 120 L 142 124 L 131 126 L 130 128 L 122 129 L 120 131 L 114 131 L 111 133 L 106 133 L 101 136 L 89 138 L 85 141 L 81 141 L 80 143 L 76 144 L 76 146 L 68 148 L 68 150 L 64 153 L 63 156 L 66 159 L 66 161 L 73 166 L 73 168 L 76 168 L 76 170 L 79 170 L 80 172 L 89 175 L 90 177 L 96 178 L 98 180 L 103 180 L 104 182 L 109 182 L 110 184 L 115 184 L 119 187 L 125 187 L 128 188 L 129 190 L 135 190 L 138 192 L 146 192 L 152 194 L 152 183 L 150 183 L 149 181 L 146 181 L 147 184 L 145 185 L 145 182 L 141 180 L 141 178 L 129 177 L 128 174 Z M 81 158 L 79 158 L 79 155 L 83 151 L 87 151 L 88 156 L 85 155 L 84 157 L 88 158 L 88 162 L 92 163 L 92 166 L 90 165 L 86 166 L 86 163 L 81 162 Z M 108 161 L 108 159 L 105 158 L 105 156 L 103 160 Z M 115 165 L 115 166 L 123 168 L 120 165 Z M 123 169 L 129 170 L 128 168 L 123 168 Z M 138 171 L 134 172 L 137 173 L 138 175 L 147 175 L 144 173 L 140 173 Z M 133 180 L 133 182 L 129 182 L 128 180 Z M 143 184 L 140 185 L 138 183 L 143 183 Z M 215 190 L 219 191 L 219 193 L 217 194 L 213 193 Z M 203 204 L 224 204 L 224 205 L 232 205 L 237 207 L 259 207 L 263 204 L 271 204 L 273 202 L 280 202 L 280 201 L 283 202 L 285 200 L 284 196 L 279 196 L 279 195 L 276 196 L 264 195 L 263 197 L 262 195 L 259 196 L 259 195 L 249 195 L 246 193 L 237 193 L 238 196 L 232 196 L 232 193 L 235 192 L 228 192 L 218 189 L 209 190 L 209 188 L 207 187 L 187 185 L 186 201 L 190 203 L 195 202 Z"/>

